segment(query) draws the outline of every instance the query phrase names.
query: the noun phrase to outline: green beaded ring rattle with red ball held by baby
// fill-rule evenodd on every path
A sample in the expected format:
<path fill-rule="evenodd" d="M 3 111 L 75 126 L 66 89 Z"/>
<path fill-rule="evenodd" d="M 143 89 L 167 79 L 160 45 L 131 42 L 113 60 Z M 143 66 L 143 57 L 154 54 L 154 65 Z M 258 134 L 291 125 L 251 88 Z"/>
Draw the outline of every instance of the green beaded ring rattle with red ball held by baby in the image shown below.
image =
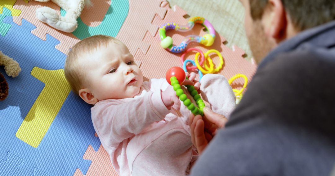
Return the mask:
<path fill-rule="evenodd" d="M 185 85 L 187 87 L 188 92 L 191 94 L 198 107 L 196 107 L 187 95 L 184 93 L 184 90 L 181 88 L 179 82 L 183 83 L 185 79 L 188 79 L 185 75 L 185 72 L 180 67 L 172 67 L 166 72 L 166 81 L 169 82 L 170 85 L 173 86 L 173 89 L 176 91 L 177 96 L 181 101 L 183 101 L 184 105 L 189 109 L 194 115 L 203 116 L 203 108 L 205 107 L 204 101 L 201 99 L 198 91 L 194 89 L 192 85 Z"/>

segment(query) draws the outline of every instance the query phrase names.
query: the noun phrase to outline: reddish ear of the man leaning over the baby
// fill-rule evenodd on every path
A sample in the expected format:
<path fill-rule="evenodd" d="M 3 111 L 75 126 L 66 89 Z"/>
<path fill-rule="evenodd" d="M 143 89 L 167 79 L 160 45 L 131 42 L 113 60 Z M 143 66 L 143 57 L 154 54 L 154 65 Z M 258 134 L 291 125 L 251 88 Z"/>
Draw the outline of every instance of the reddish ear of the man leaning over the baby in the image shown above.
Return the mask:
<path fill-rule="evenodd" d="M 277 41 L 282 40 L 286 35 L 287 19 L 281 0 L 269 0 L 263 18 L 267 20 L 265 33 Z"/>

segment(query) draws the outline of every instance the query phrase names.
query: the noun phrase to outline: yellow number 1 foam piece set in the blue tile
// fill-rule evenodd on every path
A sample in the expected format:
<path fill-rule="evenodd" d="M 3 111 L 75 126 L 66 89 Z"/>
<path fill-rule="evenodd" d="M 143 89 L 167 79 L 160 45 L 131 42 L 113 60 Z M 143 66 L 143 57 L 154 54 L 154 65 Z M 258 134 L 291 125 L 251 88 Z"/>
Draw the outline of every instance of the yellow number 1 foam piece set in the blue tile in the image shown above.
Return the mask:
<path fill-rule="evenodd" d="M 45 87 L 24 118 L 16 137 L 37 148 L 70 93 L 64 70 L 45 70 L 34 67 L 31 75 L 45 83 Z"/>

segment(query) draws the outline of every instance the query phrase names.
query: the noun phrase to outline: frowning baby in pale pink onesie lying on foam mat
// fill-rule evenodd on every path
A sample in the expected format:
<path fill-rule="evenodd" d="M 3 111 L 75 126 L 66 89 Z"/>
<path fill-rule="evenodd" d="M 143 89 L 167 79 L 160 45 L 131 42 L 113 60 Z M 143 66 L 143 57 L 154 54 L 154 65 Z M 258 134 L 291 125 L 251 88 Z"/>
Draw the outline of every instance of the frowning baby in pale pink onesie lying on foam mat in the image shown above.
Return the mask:
<path fill-rule="evenodd" d="M 72 90 L 94 105 L 94 129 L 118 174 L 189 172 L 197 157 L 188 126 L 191 112 L 165 79 L 143 82 L 121 41 L 104 35 L 83 39 L 69 52 L 64 70 Z M 198 90 L 195 74 L 187 76 L 184 84 L 196 83 Z M 223 76 L 205 75 L 200 89 L 213 111 L 227 117 L 235 107 L 235 95 Z"/>

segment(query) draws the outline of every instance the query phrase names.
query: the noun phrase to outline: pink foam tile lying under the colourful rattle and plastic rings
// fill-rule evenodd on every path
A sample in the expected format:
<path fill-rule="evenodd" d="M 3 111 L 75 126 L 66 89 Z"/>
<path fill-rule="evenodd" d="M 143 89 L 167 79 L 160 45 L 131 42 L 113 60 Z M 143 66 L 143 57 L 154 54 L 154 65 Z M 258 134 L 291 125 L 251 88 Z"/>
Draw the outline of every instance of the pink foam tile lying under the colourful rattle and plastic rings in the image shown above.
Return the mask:
<path fill-rule="evenodd" d="M 164 4 L 163 4 L 164 5 Z M 167 13 L 165 15 L 164 19 L 160 19 L 159 17 L 155 17 L 152 24 L 155 24 L 157 26 L 160 26 L 166 22 L 176 22 L 180 25 L 187 24 L 187 19 L 185 19 L 183 16 L 186 15 L 186 11 L 182 10 L 178 6 L 174 7 L 173 9 L 170 9 L 167 5 L 164 6 L 167 9 Z M 195 35 L 204 35 L 206 32 L 203 31 L 203 26 L 200 24 L 196 24 L 193 30 L 188 32 L 176 32 L 176 31 L 167 31 L 166 34 L 171 36 L 174 40 L 174 44 L 179 45 L 183 38 L 190 34 Z M 160 38 L 159 35 L 156 34 L 154 37 L 152 37 L 149 34 L 146 34 L 143 41 L 146 43 L 150 43 L 150 49 L 146 54 L 143 54 L 139 51 L 135 54 L 135 59 L 142 61 L 141 70 L 143 71 L 144 76 L 146 79 L 150 78 L 162 78 L 165 76 L 165 72 L 173 67 L 173 66 L 180 66 L 181 64 L 181 53 L 174 54 L 171 53 L 160 46 Z M 246 59 L 242 57 L 244 54 L 244 51 L 237 47 L 233 46 L 232 48 L 229 48 L 223 44 L 225 41 L 224 37 L 220 36 L 218 33 L 216 33 L 216 39 L 212 46 L 205 47 L 203 45 L 200 45 L 198 43 L 190 43 L 189 47 L 195 47 L 203 52 L 208 51 L 209 49 L 216 49 L 218 50 L 221 55 L 224 58 L 224 66 L 220 70 L 218 74 L 224 75 L 227 79 L 232 77 L 235 74 L 241 73 L 245 74 L 249 80 L 251 80 L 254 72 L 256 71 L 256 65 L 251 64 Z M 185 59 L 191 59 L 194 60 L 194 52 L 186 54 Z M 213 59 L 214 63 L 217 65 L 219 63 L 218 57 L 213 54 L 210 55 Z M 234 81 L 233 88 L 242 87 L 244 83 L 244 80 L 238 79 Z"/>

